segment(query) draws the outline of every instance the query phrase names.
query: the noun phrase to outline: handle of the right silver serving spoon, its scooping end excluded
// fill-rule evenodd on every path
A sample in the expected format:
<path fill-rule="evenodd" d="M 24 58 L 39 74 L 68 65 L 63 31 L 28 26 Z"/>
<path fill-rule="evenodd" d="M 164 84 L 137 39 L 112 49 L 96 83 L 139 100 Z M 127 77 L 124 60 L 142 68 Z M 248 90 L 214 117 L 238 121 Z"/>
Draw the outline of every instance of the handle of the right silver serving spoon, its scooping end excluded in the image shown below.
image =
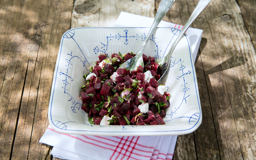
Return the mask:
<path fill-rule="evenodd" d="M 172 52 L 175 48 L 175 46 L 180 41 L 180 38 L 183 36 L 183 34 L 187 31 L 188 27 L 191 25 L 191 23 L 196 19 L 196 17 L 204 10 L 204 8 L 211 2 L 211 0 L 200 0 L 198 4 L 196 5 L 196 8 L 192 12 L 191 16 L 189 17 L 187 23 L 184 25 L 184 27 L 181 29 L 180 34 L 177 36 L 176 40 L 172 44 L 172 47 L 170 51 L 168 52 L 168 55 L 170 58 L 172 56 Z"/>

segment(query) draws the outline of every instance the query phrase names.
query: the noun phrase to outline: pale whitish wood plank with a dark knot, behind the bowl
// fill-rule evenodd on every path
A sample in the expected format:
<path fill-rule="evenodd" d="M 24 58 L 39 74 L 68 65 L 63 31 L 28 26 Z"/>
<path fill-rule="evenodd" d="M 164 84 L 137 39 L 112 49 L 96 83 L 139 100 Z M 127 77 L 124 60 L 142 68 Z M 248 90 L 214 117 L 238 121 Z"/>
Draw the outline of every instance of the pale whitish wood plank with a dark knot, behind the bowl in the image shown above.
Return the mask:
<path fill-rule="evenodd" d="M 155 17 L 154 0 L 76 0 L 71 28 L 113 27 L 120 12 Z"/>

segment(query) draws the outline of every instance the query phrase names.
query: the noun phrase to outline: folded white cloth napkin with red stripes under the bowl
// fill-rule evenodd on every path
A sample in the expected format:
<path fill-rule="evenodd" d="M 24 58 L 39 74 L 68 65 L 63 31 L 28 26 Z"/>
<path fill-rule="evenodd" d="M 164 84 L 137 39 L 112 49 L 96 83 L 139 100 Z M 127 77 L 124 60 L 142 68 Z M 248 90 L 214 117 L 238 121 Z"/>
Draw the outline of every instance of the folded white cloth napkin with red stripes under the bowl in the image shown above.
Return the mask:
<path fill-rule="evenodd" d="M 114 27 L 150 27 L 153 18 L 121 12 Z M 161 21 L 158 27 L 182 28 Z M 194 60 L 198 52 L 203 31 L 189 28 L 187 34 Z M 53 146 L 53 157 L 68 160 L 172 160 L 176 136 L 87 136 L 56 132 L 49 126 L 39 140 Z"/>

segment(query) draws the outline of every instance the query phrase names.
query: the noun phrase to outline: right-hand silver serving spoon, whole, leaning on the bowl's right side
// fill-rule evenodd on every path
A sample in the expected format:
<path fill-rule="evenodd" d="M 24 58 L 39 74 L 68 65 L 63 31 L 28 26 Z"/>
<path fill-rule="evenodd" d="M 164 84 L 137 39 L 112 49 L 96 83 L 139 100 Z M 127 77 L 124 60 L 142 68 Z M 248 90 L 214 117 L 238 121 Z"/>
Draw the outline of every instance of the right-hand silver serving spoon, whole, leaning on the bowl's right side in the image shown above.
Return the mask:
<path fill-rule="evenodd" d="M 187 23 L 185 26 L 181 29 L 180 34 L 177 36 L 175 39 L 174 43 L 171 46 L 170 51 L 168 54 L 162 58 L 156 61 L 156 63 L 159 64 L 159 66 L 163 67 L 162 70 L 162 76 L 160 79 L 157 81 L 157 85 L 163 84 L 166 82 L 166 79 L 168 76 L 166 76 L 170 70 L 170 63 L 171 63 L 171 56 L 174 48 L 180 41 L 181 37 L 184 35 L 184 33 L 187 31 L 188 27 L 191 25 L 191 23 L 196 19 L 196 17 L 204 10 L 204 8 L 211 2 L 211 0 L 200 0 L 198 4 L 196 5 L 196 8 L 192 12 L 191 16 L 189 17 Z M 160 81 L 162 80 L 162 81 Z"/>

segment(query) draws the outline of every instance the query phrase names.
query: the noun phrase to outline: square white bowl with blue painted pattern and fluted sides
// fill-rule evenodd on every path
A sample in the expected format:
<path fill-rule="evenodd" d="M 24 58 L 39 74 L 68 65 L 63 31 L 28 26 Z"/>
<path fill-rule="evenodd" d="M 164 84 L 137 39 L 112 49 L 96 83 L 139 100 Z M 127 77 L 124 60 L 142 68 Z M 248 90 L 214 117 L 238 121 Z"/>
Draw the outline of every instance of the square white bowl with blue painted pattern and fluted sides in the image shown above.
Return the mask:
<path fill-rule="evenodd" d="M 137 53 L 149 28 L 73 28 L 65 32 L 60 42 L 48 118 L 54 130 L 68 134 L 101 136 L 181 135 L 194 132 L 202 122 L 202 111 L 196 72 L 188 36 L 176 46 L 166 82 L 170 108 L 166 109 L 164 125 L 94 125 L 88 122 L 81 109 L 81 86 L 88 66 L 106 53 Z M 157 28 L 144 54 L 162 58 L 169 51 L 176 36 L 176 28 Z"/>

